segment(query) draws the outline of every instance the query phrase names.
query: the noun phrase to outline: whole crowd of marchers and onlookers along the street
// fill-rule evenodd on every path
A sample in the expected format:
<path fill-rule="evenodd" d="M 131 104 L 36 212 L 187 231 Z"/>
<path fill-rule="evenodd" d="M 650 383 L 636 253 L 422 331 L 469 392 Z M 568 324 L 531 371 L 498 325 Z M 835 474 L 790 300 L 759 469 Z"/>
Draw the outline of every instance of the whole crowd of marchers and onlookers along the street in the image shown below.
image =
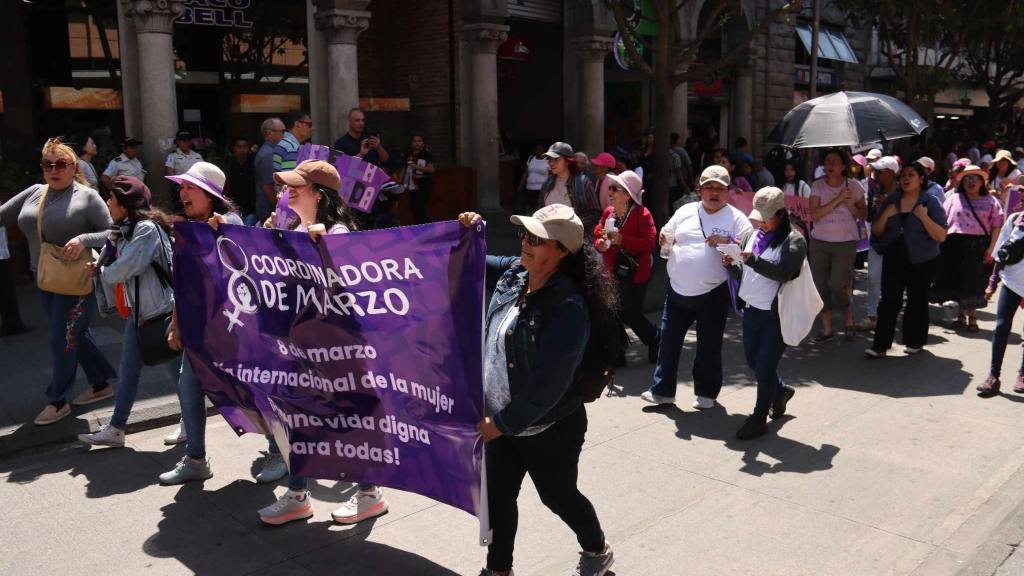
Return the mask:
<path fill-rule="evenodd" d="M 334 148 L 370 163 L 388 163 L 391 153 L 380 134 L 366 133 L 362 112 L 352 110 L 348 119 L 349 130 Z M 288 123 L 267 119 L 255 157 L 249 156 L 250 142 L 239 138 L 232 142 L 234 157 L 226 170 L 193 151 L 190 134 L 178 133 L 165 165 L 165 177 L 176 188 L 176 212 L 154 205 L 142 182 L 145 172 L 136 140 L 123 141 L 122 155 L 98 179 L 89 162 L 94 146 L 86 142 L 80 156 L 59 138 L 44 145 L 44 182 L 0 206 L 0 224 L 17 227 L 28 238 L 31 268 L 49 323 L 53 370 L 36 424 L 61 420 L 73 405 L 113 397 L 110 422 L 80 440 L 124 446 L 143 364 L 155 366 L 175 380 L 181 405 L 180 426 L 165 442 L 185 445 L 184 456 L 159 482 L 180 485 L 213 476 L 205 442 L 205 396 L 187 357 L 143 362 L 141 331 L 154 322 L 167 322 L 169 349 L 182 348 L 171 282 L 171 224 L 186 220 L 214 229 L 274 228 L 282 225 L 272 216 L 284 197 L 299 216 L 290 228 L 313 241 L 393 225 L 387 206 L 393 198 L 382 200 L 382 211 L 369 219 L 360 217 L 340 195 L 340 175 L 332 164 L 297 163 L 300 142 L 309 139 L 311 127 L 306 113 L 292 115 Z M 927 343 L 930 303 L 947 311 L 951 328 L 978 331 L 977 311 L 1001 282 L 1006 286 L 996 306 L 990 373 L 978 385 L 982 397 L 999 390 L 1011 323 L 1024 301 L 1024 182 L 1012 153 L 994 151 L 987 166 L 980 156 L 977 161 L 970 155 L 947 158 L 937 172 L 930 157 L 907 161 L 880 148 L 852 156 L 852 151 L 830 149 L 819 156 L 819 177 L 808 183 L 801 177 L 799 159 L 775 158 L 771 170 L 772 159 L 755 162 L 745 140 L 737 141 L 733 153 L 718 149 L 694 162 L 675 138 L 669 191 L 674 213 L 658 229 L 644 206 L 652 137 L 645 136 L 638 158 L 612 151 L 591 159 L 566 142 L 537 148 L 525 163 L 520 187 L 524 202 L 536 204 L 537 210 L 531 216 L 512 217 L 520 231 L 521 252 L 488 256 L 485 417 L 477 430 L 486 441 L 494 540 L 483 574 L 511 573 L 516 499 L 527 472 L 542 501 L 578 536 L 582 552 L 577 574 L 601 575 L 613 563 L 597 512 L 577 486 L 587 430 L 579 373 L 593 340 L 609 338 L 608 331 L 595 328 L 598 319 L 621 320 L 645 346 L 654 368 L 641 398 L 654 405 L 676 402 L 680 355 L 694 327 L 692 407 L 707 410 L 716 405 L 722 389 L 728 316 L 730 311 L 740 315 L 757 399 L 736 437 L 753 440 L 768 434 L 768 419 L 783 416 L 796 393 L 779 375 L 792 344 L 783 333 L 794 308 L 820 313 L 821 329 L 810 339 L 813 345 L 829 345 L 836 339 L 836 313 L 845 341 L 856 340 L 858 331 L 873 330 L 864 355 L 878 359 L 893 345 L 901 311 L 908 355 Z M 426 218 L 434 170 L 422 135 L 412 139 L 407 167 L 403 187 L 418 195 L 413 206 L 419 221 Z M 936 178 L 943 172 L 947 178 L 941 184 Z M 750 193 L 753 208 L 744 213 L 734 200 Z M 791 215 L 791 198 L 806 199 L 809 232 Z M 467 227 L 479 219 L 473 212 L 460 216 Z M 858 323 L 853 284 L 861 258 L 867 263 L 867 310 Z M 659 259 L 665 260 L 668 283 L 655 325 L 645 316 L 643 302 Z M 803 276 L 805 270 L 809 279 Z M 813 283 L 820 308 L 810 301 L 781 303 L 780 292 L 802 277 Z M 97 314 L 117 314 L 125 321 L 119 370 L 92 338 L 90 323 Z M 4 308 L 4 333 L 22 329 L 19 320 Z M 625 349 L 617 352 L 609 360 L 623 366 Z M 70 399 L 79 365 L 89 386 Z M 528 366 L 546 368 L 521 368 Z M 1024 393 L 1024 360 L 1014 389 Z M 267 440 L 268 456 L 256 480 L 275 483 L 288 477 L 288 490 L 258 510 L 259 519 L 280 525 L 310 518 L 307 479 L 289 475 L 280 447 L 272 438 Z M 387 510 L 381 488 L 360 484 L 332 517 L 355 524 Z"/>

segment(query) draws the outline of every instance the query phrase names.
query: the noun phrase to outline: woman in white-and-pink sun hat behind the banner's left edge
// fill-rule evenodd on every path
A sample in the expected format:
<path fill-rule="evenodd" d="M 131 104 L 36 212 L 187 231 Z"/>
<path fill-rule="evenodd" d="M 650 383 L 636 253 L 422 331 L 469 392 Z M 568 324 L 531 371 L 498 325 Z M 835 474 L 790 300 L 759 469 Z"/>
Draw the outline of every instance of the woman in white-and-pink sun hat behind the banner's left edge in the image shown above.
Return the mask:
<path fill-rule="evenodd" d="M 217 166 L 197 162 L 180 176 L 164 177 L 181 187 L 178 195 L 187 220 L 209 222 L 214 228 L 220 223 L 242 224 L 234 204 L 224 196 L 226 177 Z M 174 349 L 181 349 L 176 317 L 171 322 L 167 343 Z M 210 459 L 206 457 L 206 396 L 199 386 L 187 355 L 181 356 L 178 401 L 181 403 L 181 429 L 164 439 L 164 442 L 184 436 L 185 455 L 174 469 L 160 475 L 160 483 L 164 485 L 184 484 L 213 476 Z"/>

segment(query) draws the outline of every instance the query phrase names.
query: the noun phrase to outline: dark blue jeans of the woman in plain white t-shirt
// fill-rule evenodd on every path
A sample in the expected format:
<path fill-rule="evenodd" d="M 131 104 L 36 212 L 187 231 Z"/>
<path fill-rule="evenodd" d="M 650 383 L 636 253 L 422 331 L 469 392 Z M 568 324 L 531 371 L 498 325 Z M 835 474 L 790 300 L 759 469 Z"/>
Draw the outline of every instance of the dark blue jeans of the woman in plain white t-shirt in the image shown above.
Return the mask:
<path fill-rule="evenodd" d="M 699 296 L 677 294 L 672 287 L 665 298 L 662 313 L 662 343 L 657 349 L 657 366 L 650 392 L 657 396 L 676 397 L 676 373 L 679 354 L 686 331 L 697 324 L 697 349 L 693 355 L 693 394 L 718 398 L 722 392 L 722 337 L 729 315 L 729 284 Z"/>

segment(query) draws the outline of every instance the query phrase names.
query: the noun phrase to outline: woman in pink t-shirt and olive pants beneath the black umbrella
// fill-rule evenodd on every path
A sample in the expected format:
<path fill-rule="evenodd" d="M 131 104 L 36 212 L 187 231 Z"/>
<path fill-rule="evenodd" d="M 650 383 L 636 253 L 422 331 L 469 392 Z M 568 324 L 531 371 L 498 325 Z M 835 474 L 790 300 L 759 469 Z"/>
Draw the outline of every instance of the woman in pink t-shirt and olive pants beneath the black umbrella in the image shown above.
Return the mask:
<path fill-rule="evenodd" d="M 846 339 L 857 332 L 851 305 L 853 263 L 857 258 L 860 229 L 857 220 L 867 217 L 865 191 L 860 180 L 849 177 L 850 164 L 841 149 L 830 149 L 823 158 L 825 175 L 811 184 L 810 266 L 814 285 L 825 303 L 821 310 L 821 333 L 813 338 L 823 343 L 835 337 L 833 305 L 843 311 Z"/>

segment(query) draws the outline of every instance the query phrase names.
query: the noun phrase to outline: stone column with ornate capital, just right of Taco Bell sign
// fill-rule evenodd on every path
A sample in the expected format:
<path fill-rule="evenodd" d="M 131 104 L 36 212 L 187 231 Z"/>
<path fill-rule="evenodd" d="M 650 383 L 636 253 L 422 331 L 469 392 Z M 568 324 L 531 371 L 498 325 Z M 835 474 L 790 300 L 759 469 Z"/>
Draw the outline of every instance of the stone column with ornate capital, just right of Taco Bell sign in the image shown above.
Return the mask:
<path fill-rule="evenodd" d="M 366 6 L 369 2 L 322 2 L 316 28 L 327 36 L 327 80 L 331 138 L 348 130 L 348 111 L 359 106 L 359 68 L 355 41 L 370 28 L 367 10 L 338 7 Z M 325 8 L 325 5 L 330 7 Z"/>

